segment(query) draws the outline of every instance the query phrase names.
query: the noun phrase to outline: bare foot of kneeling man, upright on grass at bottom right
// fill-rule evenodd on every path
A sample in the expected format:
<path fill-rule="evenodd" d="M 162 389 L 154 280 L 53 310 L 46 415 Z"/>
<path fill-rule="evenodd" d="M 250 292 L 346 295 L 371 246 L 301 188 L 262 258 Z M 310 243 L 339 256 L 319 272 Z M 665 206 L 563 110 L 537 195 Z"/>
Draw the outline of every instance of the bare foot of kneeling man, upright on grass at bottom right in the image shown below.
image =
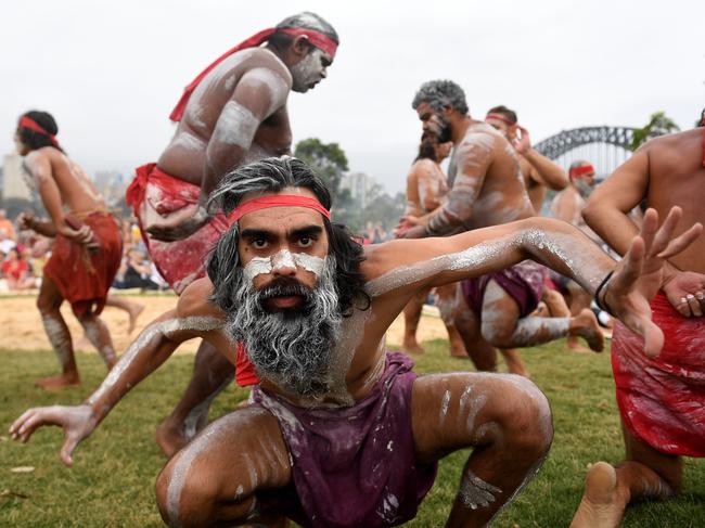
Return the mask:
<path fill-rule="evenodd" d="M 606 462 L 598 462 L 588 471 L 585 493 L 575 512 L 571 528 L 618 527 L 626 501 L 617 487 L 617 472 Z"/>

